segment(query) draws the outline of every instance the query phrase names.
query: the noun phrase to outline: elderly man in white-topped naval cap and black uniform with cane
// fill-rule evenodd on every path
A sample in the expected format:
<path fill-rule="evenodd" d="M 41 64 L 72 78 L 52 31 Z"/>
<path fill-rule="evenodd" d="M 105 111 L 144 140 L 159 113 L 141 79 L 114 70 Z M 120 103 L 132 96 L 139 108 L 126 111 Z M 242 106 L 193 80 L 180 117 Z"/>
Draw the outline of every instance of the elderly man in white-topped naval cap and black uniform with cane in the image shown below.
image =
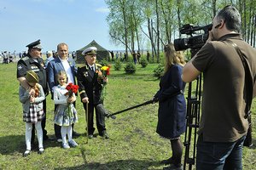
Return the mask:
<path fill-rule="evenodd" d="M 96 110 L 96 127 L 98 133 L 102 138 L 108 139 L 105 127 L 105 110 L 103 107 L 102 82 L 99 81 L 99 74 L 101 73 L 102 65 L 96 64 L 96 47 L 84 49 L 85 65 L 78 69 L 78 85 L 81 101 L 86 111 L 86 103 L 88 103 L 88 137 L 93 138 L 95 127 L 93 126 L 94 110 Z M 103 79 L 104 83 L 108 82 L 108 78 Z M 87 116 L 86 116 L 87 117 Z"/>

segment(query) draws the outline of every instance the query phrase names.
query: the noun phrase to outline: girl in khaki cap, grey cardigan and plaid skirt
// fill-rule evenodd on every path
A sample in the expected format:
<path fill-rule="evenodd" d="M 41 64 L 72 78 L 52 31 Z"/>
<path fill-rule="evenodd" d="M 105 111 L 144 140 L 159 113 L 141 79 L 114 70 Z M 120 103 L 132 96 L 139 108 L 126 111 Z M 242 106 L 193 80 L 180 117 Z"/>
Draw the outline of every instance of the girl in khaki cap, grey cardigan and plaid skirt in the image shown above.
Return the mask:
<path fill-rule="evenodd" d="M 23 156 L 28 156 L 31 151 L 32 124 L 35 124 L 38 134 L 38 154 L 44 152 L 43 146 L 43 130 L 41 120 L 45 116 L 43 110 L 43 100 L 45 99 L 44 90 L 39 82 L 38 75 L 34 71 L 26 71 L 26 82 L 34 89 L 30 94 L 31 88 L 23 88 L 20 86 L 19 96 L 23 107 L 23 121 L 26 122 L 26 151 Z"/>

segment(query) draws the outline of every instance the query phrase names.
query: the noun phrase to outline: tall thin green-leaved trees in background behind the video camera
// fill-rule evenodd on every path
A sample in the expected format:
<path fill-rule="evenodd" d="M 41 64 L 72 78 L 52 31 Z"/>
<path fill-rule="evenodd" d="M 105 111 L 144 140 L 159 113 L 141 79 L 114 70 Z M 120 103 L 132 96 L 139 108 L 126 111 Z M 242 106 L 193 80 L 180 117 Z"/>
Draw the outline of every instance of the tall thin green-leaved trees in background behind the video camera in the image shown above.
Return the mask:
<path fill-rule="evenodd" d="M 256 0 L 105 0 L 110 10 L 109 36 L 125 53 L 151 49 L 160 61 L 160 50 L 174 39 L 184 37 L 185 24 L 206 26 L 218 10 L 233 4 L 241 13 L 241 34 L 255 48 Z M 186 36 L 185 36 L 186 37 Z"/>

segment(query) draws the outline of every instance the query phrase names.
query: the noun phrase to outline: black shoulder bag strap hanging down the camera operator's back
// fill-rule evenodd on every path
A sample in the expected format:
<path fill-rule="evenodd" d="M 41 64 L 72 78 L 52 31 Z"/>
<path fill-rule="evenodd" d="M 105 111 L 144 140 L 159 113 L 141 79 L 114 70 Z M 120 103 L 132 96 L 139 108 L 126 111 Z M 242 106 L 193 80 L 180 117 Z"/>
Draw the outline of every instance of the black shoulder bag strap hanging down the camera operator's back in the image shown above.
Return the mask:
<path fill-rule="evenodd" d="M 236 49 L 237 54 L 241 59 L 241 63 L 243 65 L 245 71 L 245 91 L 246 91 L 246 115 L 247 121 L 249 123 L 249 127 L 247 130 L 247 137 L 243 143 L 244 146 L 251 147 L 253 146 L 253 138 L 252 138 L 252 120 L 251 120 L 251 105 L 253 100 L 253 78 L 251 75 L 251 71 L 249 69 L 249 65 L 246 61 L 244 54 L 241 53 L 241 50 L 237 47 L 235 42 L 231 42 L 230 40 L 225 40 L 225 42 L 230 42 L 230 44 Z"/>

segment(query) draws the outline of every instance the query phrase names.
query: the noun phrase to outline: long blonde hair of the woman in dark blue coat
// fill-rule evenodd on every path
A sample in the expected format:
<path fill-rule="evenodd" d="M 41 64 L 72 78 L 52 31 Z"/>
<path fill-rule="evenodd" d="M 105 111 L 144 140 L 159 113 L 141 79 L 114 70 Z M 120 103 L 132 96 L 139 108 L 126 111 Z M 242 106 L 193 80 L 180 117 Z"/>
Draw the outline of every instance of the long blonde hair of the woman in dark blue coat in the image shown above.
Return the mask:
<path fill-rule="evenodd" d="M 184 60 L 183 51 L 176 51 L 174 48 L 174 44 L 172 42 L 165 46 L 165 54 L 166 54 L 165 73 L 171 68 L 172 65 L 186 64 Z"/>

